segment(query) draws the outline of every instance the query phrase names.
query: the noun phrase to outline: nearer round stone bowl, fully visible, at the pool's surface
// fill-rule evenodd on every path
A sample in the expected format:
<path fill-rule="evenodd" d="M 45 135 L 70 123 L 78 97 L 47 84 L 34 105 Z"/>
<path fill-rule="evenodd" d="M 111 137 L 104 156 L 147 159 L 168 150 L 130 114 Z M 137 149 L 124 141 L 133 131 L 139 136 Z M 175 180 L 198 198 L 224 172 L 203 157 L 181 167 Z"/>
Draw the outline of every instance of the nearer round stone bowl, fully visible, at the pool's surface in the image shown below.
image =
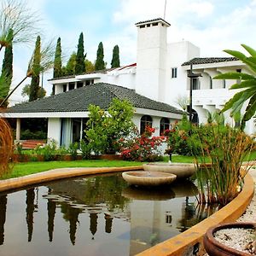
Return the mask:
<path fill-rule="evenodd" d="M 123 172 L 122 177 L 130 185 L 160 186 L 170 184 L 176 179 L 176 175 L 165 172 Z"/>

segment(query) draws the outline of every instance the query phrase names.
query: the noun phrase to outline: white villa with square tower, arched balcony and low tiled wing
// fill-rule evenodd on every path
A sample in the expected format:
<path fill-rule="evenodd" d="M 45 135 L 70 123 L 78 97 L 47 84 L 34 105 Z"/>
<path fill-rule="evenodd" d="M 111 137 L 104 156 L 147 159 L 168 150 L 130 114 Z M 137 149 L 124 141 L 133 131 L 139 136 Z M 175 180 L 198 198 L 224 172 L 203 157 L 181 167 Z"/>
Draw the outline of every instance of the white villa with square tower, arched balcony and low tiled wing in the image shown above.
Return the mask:
<path fill-rule="evenodd" d="M 21 104 L 20 106 L 9 108 L 6 116 L 17 118 L 18 126 L 19 118 L 35 117 L 35 115 L 49 118 L 48 137 L 54 138 L 60 145 L 63 131 L 67 129 L 66 133 L 70 133 L 74 118 L 80 119 L 76 120 L 80 124 L 77 128 L 77 133 L 79 133 L 79 129 L 81 130 L 83 127 L 83 118 L 88 116 L 86 109 L 81 111 L 79 108 L 76 109 L 75 106 L 68 109 L 66 106 L 63 110 L 61 110 L 62 108 L 59 109 L 60 104 L 65 104 L 64 102 L 59 102 L 62 98 L 61 95 L 71 96 L 70 91 L 79 90 L 79 88 L 88 88 L 89 90 L 91 86 L 97 86 L 97 83 L 114 84 L 118 85 L 116 88 L 119 88 L 119 91 L 120 87 L 124 88 L 124 90 L 125 88 L 128 89 L 128 95 L 130 94 L 128 91 L 133 91 L 136 97 L 145 96 L 146 98 L 141 99 L 142 102 L 148 102 L 150 99 L 146 107 L 142 107 L 142 102 L 135 106 L 134 121 L 139 129 L 142 125 L 142 120 L 143 122 L 151 122 L 157 128 L 156 135 L 159 135 L 162 130 L 160 123 L 162 125 L 169 124 L 175 119 L 181 118 L 181 113 L 171 106 L 175 104 L 177 106 L 178 96 L 189 96 L 190 79 L 188 73 L 190 64 L 193 64 L 194 73 L 201 73 L 202 75 L 200 78 L 194 79 L 192 85 L 194 119 L 198 118 L 199 123 L 206 122 L 208 112 L 213 113 L 222 109 L 224 103 L 236 93 L 236 90 L 229 90 L 230 85 L 236 81 L 212 80 L 212 78 L 218 73 L 230 71 L 249 73 L 247 67 L 236 58 L 200 58 L 200 49 L 194 44 L 186 41 L 167 44 L 166 33 L 170 24 L 166 20 L 160 18 L 147 20 L 136 23 L 136 26 L 136 63 L 97 73 L 84 73 L 82 75 L 50 79 L 49 83 L 55 87 L 55 96 L 25 103 L 30 105 Z M 107 85 L 107 87 L 110 85 Z M 113 86 L 111 90 L 115 91 Z M 65 96 L 63 96 L 63 101 L 71 100 Z M 125 95 L 122 96 L 125 97 Z M 91 103 L 97 102 L 97 95 L 92 95 L 91 97 Z M 147 98 L 148 100 L 146 100 Z M 158 102 L 157 104 L 166 103 L 171 106 L 161 105 L 160 107 L 158 105 L 156 107 L 155 104 L 150 103 L 152 100 L 153 102 Z M 51 104 L 57 104 L 58 108 L 52 109 L 49 106 L 45 108 L 46 105 Z M 150 105 L 154 105 L 154 107 L 150 109 Z M 35 111 L 34 108 L 36 109 Z M 168 110 L 164 111 L 165 108 Z M 235 125 L 234 121 L 230 119 L 229 112 L 224 113 L 224 115 L 227 122 Z M 64 129 L 64 127 L 66 128 Z M 245 131 L 249 134 L 255 132 L 253 120 L 247 122 Z M 74 141 L 72 135 L 68 135 L 66 139 L 67 142 Z"/>

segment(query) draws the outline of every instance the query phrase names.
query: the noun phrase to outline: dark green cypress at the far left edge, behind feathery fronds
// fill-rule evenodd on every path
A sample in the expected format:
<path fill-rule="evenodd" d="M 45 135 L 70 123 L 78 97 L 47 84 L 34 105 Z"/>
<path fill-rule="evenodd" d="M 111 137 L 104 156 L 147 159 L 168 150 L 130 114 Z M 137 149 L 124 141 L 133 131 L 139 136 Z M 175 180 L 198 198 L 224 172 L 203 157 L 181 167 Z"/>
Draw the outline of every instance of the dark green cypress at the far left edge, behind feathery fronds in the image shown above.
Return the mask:
<path fill-rule="evenodd" d="M 4 83 L 0 84 L 1 91 L 3 91 L 3 95 L 1 97 L 5 98 L 8 96 L 9 93 L 9 87 L 13 79 L 13 30 L 9 31 L 8 38 L 10 39 L 10 44 L 5 47 L 4 49 L 4 57 L 3 57 L 3 66 L 2 66 L 2 73 L 1 73 L 1 81 L 4 81 Z"/>

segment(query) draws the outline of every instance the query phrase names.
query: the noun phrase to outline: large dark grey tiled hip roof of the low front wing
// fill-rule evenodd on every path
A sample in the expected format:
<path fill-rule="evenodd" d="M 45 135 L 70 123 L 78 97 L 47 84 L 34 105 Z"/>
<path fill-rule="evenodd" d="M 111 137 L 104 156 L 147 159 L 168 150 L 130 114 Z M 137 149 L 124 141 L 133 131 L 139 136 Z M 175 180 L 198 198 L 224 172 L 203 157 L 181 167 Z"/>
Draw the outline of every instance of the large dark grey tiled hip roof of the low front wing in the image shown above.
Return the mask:
<path fill-rule="evenodd" d="M 54 96 L 44 97 L 34 102 L 25 102 L 7 108 L 8 113 L 42 113 L 42 112 L 86 112 L 90 104 L 107 109 L 114 97 L 127 99 L 135 108 L 146 108 L 169 113 L 183 111 L 163 102 L 156 102 L 141 96 L 135 90 L 114 84 L 90 84 L 75 90 L 69 90 Z"/>

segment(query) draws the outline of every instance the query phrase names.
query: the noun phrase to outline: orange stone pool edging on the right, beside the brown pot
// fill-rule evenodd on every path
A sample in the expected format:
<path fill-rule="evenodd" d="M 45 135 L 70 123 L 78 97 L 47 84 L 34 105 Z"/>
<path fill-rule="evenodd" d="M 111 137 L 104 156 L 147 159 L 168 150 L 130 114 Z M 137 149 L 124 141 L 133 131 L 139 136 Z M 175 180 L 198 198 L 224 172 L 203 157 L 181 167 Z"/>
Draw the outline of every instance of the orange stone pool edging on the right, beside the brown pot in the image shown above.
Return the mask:
<path fill-rule="evenodd" d="M 203 236 L 207 230 L 216 224 L 235 221 L 246 211 L 254 195 L 253 177 L 249 174 L 245 177 L 244 187 L 236 198 L 218 212 L 202 220 L 189 230 L 163 241 L 154 247 L 148 248 L 137 256 L 181 256 L 203 255 Z"/>

